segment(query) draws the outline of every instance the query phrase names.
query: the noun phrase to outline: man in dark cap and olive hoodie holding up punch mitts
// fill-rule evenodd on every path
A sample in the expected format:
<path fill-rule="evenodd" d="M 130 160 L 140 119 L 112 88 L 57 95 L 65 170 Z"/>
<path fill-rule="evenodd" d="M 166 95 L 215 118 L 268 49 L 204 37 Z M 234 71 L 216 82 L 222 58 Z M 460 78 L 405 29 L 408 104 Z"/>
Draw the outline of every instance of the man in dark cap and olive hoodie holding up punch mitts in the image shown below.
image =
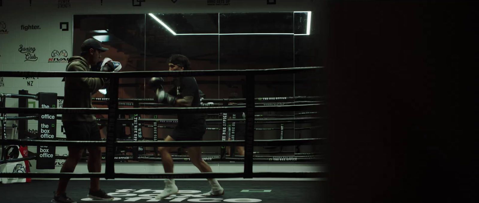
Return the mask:
<path fill-rule="evenodd" d="M 67 71 L 102 71 L 113 72 L 121 69 L 121 64 L 109 58 L 102 58 L 102 52 L 107 51 L 101 43 L 93 38 L 85 40 L 81 44 L 80 56 L 72 56 L 68 59 Z M 65 97 L 63 107 L 65 108 L 92 108 L 91 95 L 109 85 L 108 78 L 93 77 L 66 77 Z M 67 140 L 79 141 L 100 141 L 100 129 L 96 118 L 91 114 L 63 114 L 62 122 L 65 128 Z M 82 157 L 85 148 L 90 152 L 88 157 L 88 171 L 100 172 L 102 151 L 100 147 L 73 147 L 68 146 L 68 158 L 65 160 L 60 172 L 73 172 Z M 52 203 L 76 203 L 66 194 L 69 178 L 60 178 L 57 191 L 54 192 Z M 93 200 L 113 200 L 100 189 L 100 179 L 90 179 L 90 192 L 88 197 Z"/>

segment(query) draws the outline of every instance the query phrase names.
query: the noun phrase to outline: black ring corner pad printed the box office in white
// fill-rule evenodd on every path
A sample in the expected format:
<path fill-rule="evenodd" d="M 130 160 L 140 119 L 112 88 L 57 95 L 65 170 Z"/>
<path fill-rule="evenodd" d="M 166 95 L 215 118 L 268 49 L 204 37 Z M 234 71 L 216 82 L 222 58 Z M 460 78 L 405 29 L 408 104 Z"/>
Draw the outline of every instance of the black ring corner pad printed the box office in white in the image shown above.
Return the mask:
<path fill-rule="evenodd" d="M 40 108 L 56 108 L 57 93 L 38 93 Z M 54 140 L 57 137 L 57 115 L 41 114 L 38 118 L 38 137 L 40 140 Z M 55 169 L 55 146 L 37 146 L 36 169 Z"/>

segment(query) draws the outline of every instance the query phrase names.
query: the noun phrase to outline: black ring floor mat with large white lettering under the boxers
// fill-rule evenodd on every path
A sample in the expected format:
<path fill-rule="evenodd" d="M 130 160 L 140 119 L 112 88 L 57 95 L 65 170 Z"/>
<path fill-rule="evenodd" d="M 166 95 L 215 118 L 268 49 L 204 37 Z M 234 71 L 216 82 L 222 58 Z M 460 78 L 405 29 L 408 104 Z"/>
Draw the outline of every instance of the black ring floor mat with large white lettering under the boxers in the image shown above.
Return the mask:
<path fill-rule="evenodd" d="M 57 189 L 57 181 L 34 180 L 30 183 L 0 184 L 0 203 L 49 203 Z M 115 201 L 88 201 L 90 181 L 70 181 L 67 195 L 77 202 L 261 202 L 261 203 L 318 203 L 324 202 L 323 181 L 221 181 L 225 194 L 219 197 L 203 197 L 202 193 L 210 190 L 205 181 L 176 180 L 179 194 L 170 199 L 155 200 L 164 187 L 158 181 L 100 181 L 100 187 L 107 193 L 116 192 Z M 271 191 L 269 191 L 271 190 Z M 243 192 L 241 192 L 243 191 Z M 119 199 L 121 198 L 121 199 Z M 217 199 L 205 199 L 217 198 Z M 239 199 L 241 198 L 241 199 Z M 247 199 L 251 200 L 247 200 Z M 254 200 L 256 199 L 256 200 Z M 261 201 L 260 201 L 261 200 Z"/>

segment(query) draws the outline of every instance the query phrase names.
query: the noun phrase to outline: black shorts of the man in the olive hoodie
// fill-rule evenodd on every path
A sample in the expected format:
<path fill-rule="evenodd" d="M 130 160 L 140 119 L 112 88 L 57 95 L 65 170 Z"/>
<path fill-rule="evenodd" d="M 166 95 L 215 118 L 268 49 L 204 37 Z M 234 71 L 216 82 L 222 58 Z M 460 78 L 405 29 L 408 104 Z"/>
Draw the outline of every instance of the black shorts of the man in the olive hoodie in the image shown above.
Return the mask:
<path fill-rule="evenodd" d="M 63 122 L 67 140 L 71 141 L 101 141 L 100 128 L 96 121 Z"/>

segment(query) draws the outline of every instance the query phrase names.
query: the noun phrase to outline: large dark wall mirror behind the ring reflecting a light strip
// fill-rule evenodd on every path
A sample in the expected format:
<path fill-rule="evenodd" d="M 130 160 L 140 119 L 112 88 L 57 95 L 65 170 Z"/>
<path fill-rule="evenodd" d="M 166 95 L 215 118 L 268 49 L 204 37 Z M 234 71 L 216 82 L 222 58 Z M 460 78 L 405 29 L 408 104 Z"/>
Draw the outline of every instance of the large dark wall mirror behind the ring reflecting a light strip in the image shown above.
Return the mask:
<path fill-rule="evenodd" d="M 310 34 L 312 14 L 299 12 L 267 13 L 148 13 L 117 15 L 74 15 L 73 53 L 80 54 L 80 44 L 87 38 L 103 42 L 109 50 L 103 56 L 123 64 L 122 71 L 168 70 L 171 54 L 187 56 L 192 70 L 266 69 L 322 66 L 324 56 L 315 51 L 320 35 Z M 314 44 L 313 44 L 314 43 Z M 171 80 L 171 79 L 170 79 Z M 243 98 L 244 76 L 196 77 L 205 98 L 228 98 L 236 93 Z M 121 78 L 120 98 L 153 98 L 153 91 L 145 88 L 145 78 Z M 324 96 L 324 82 L 319 74 L 283 74 L 256 76 L 255 97 Z M 169 89 L 171 86 L 165 86 Z M 103 97 L 101 94 L 96 97 Z M 293 102 L 293 101 L 291 101 Z M 296 114 L 295 114 L 296 113 Z M 298 112 L 257 112 L 271 115 L 265 118 L 322 117 L 298 115 Z M 128 115 L 125 116 L 128 118 Z M 142 118 L 153 118 L 142 115 Z M 174 119 L 175 115 L 158 118 Z M 208 115 L 207 119 L 218 119 Z M 298 139 L 322 136 L 321 123 L 309 121 L 285 122 L 280 135 L 280 124 L 262 123 L 256 128 L 255 139 Z M 219 123 L 207 123 L 218 128 Z M 167 125 L 172 126 L 174 125 Z M 160 129 L 166 137 L 171 129 Z M 128 137 L 126 129 L 124 135 Z M 143 128 L 145 138 L 151 138 L 152 129 Z M 221 140 L 218 130 L 208 130 L 204 140 Z M 317 138 L 317 136 L 314 136 Z M 152 150 L 152 149 L 146 149 Z M 294 152 L 308 153 L 310 146 L 263 148 L 254 151 L 266 156 L 291 156 Z M 203 151 L 219 154 L 219 147 L 204 147 Z M 268 152 L 282 151 L 280 155 Z M 184 155 L 184 154 L 183 154 Z"/>

